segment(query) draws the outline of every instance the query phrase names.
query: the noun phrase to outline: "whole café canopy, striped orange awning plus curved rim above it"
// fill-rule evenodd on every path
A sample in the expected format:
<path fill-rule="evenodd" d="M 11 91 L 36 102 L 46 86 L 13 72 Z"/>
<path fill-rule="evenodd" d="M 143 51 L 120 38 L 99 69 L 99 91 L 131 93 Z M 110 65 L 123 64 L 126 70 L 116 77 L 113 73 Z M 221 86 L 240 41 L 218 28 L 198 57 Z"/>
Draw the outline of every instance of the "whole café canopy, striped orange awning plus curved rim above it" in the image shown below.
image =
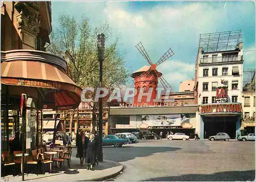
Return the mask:
<path fill-rule="evenodd" d="M 20 57 L 8 57 L 8 51 L 4 53 L 1 54 L 2 84 L 38 88 L 45 97 L 44 109 L 66 110 L 78 107 L 81 88 L 65 73 L 65 60 L 35 50 L 21 50 L 23 55 Z"/>

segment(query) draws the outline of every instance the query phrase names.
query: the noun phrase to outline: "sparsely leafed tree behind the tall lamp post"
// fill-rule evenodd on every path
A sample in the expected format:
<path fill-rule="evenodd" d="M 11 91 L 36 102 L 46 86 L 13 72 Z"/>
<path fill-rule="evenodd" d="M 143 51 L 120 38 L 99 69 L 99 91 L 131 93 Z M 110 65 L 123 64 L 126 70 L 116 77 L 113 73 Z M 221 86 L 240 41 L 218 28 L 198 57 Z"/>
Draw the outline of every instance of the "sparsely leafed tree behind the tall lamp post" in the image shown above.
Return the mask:
<path fill-rule="evenodd" d="M 104 33 L 106 40 L 103 86 L 112 90 L 127 82 L 130 75 L 129 70 L 125 68 L 124 57 L 117 51 L 118 38 L 114 42 L 110 41 L 112 32 L 108 23 L 92 28 L 88 18 L 82 16 L 78 23 L 74 17 L 65 14 L 59 16 L 59 23 L 59 28 L 54 29 L 51 33 L 51 44 L 47 51 L 68 58 L 68 74 L 78 86 L 81 88 L 97 88 L 99 86 L 97 33 Z M 94 131 L 98 105 L 93 103 L 91 107 L 93 108 L 92 130 Z M 70 132 L 72 132 L 74 113 L 73 110 L 70 119 Z"/>

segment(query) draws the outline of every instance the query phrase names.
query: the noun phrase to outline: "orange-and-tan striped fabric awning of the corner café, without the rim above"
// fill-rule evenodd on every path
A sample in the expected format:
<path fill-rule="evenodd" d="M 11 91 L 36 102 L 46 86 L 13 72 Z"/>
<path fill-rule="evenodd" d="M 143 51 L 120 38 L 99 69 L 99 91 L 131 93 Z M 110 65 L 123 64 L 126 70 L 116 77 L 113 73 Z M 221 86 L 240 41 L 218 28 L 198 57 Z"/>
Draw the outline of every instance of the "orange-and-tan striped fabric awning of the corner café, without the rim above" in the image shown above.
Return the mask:
<path fill-rule="evenodd" d="M 74 109 L 80 103 L 81 88 L 51 64 L 39 61 L 3 61 L 1 70 L 2 84 L 44 89 L 44 109 Z"/>

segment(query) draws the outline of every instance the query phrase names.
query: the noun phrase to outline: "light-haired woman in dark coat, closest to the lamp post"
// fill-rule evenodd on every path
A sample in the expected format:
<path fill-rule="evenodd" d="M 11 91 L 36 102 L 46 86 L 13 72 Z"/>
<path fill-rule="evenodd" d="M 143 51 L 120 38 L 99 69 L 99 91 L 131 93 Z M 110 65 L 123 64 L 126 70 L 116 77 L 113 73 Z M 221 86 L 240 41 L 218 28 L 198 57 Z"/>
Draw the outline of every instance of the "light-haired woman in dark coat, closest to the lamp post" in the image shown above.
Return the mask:
<path fill-rule="evenodd" d="M 86 150 L 86 163 L 88 164 L 87 169 L 94 171 L 93 165 L 95 164 L 95 157 L 96 157 L 96 140 L 93 134 L 90 134 L 88 147 Z"/>

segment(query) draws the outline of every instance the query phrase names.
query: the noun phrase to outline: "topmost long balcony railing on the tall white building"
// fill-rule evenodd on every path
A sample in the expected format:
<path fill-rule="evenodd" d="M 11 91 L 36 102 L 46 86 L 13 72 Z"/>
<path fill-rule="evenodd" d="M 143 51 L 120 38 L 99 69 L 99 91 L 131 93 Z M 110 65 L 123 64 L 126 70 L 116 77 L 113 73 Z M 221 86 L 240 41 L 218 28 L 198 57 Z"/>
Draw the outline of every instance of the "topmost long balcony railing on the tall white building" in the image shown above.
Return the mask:
<path fill-rule="evenodd" d="M 227 63 L 227 62 L 236 62 L 236 61 L 243 61 L 243 56 L 228 55 L 228 56 L 222 56 L 222 57 L 201 58 L 200 64 Z"/>

